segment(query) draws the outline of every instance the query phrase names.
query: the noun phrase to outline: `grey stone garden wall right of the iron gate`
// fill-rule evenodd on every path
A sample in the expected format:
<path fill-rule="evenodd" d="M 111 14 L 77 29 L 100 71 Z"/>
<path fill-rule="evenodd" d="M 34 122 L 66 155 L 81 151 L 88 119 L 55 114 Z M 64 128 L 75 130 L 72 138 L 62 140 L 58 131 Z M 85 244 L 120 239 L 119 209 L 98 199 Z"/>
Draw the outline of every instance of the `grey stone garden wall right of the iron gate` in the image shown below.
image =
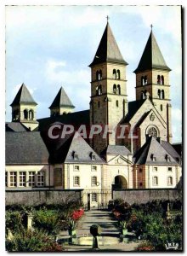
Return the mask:
<path fill-rule="evenodd" d="M 175 200 L 181 198 L 179 189 L 116 189 L 113 200 L 122 198 L 130 204 L 146 203 L 153 200 Z"/>

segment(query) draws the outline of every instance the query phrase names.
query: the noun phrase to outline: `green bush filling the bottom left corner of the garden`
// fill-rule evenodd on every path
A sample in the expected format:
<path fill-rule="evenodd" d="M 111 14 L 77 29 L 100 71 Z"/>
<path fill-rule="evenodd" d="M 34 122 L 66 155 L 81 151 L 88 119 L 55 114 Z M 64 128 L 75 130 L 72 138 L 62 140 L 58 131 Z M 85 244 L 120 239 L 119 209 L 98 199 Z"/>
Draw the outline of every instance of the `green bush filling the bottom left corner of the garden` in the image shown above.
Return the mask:
<path fill-rule="evenodd" d="M 43 230 L 22 230 L 6 241 L 8 252 L 59 252 L 63 247 Z"/>

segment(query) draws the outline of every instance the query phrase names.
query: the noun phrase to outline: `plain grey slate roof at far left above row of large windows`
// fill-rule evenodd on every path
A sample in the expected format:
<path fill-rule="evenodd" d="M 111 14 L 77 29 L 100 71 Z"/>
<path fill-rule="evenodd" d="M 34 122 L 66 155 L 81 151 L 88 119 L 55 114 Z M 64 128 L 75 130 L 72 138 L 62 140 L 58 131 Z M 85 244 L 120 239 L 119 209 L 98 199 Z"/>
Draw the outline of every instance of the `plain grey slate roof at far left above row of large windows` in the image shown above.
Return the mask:
<path fill-rule="evenodd" d="M 6 132 L 6 164 L 48 164 L 48 156 L 40 132 Z"/>

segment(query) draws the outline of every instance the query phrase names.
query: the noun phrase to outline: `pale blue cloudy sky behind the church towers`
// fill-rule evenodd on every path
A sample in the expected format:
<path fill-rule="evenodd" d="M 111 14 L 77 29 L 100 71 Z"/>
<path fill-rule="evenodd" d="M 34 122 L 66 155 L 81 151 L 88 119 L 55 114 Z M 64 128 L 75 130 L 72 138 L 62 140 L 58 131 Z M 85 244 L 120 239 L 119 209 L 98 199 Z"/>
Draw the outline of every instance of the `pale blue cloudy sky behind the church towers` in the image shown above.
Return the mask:
<path fill-rule="evenodd" d="M 24 82 L 38 103 L 37 119 L 63 86 L 75 111 L 89 108 L 93 61 L 106 16 L 127 66 L 128 101 L 135 100 L 135 74 L 150 24 L 170 73 L 173 143 L 181 142 L 181 16 L 178 6 L 7 6 L 6 120 Z"/>

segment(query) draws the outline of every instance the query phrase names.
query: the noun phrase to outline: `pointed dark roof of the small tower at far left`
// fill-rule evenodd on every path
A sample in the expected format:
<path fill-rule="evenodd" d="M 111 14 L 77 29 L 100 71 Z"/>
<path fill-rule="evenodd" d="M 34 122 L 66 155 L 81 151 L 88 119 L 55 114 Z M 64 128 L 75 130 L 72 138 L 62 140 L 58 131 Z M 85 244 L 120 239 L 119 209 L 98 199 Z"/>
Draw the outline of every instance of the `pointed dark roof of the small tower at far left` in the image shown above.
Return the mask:
<path fill-rule="evenodd" d="M 22 84 L 20 86 L 20 90 L 14 97 L 14 101 L 12 102 L 12 104 L 10 104 L 10 106 L 13 107 L 13 106 L 18 106 L 20 104 L 29 104 L 34 106 L 37 105 L 37 102 L 34 101 L 34 99 L 31 96 L 31 93 L 26 88 L 25 84 Z"/>

